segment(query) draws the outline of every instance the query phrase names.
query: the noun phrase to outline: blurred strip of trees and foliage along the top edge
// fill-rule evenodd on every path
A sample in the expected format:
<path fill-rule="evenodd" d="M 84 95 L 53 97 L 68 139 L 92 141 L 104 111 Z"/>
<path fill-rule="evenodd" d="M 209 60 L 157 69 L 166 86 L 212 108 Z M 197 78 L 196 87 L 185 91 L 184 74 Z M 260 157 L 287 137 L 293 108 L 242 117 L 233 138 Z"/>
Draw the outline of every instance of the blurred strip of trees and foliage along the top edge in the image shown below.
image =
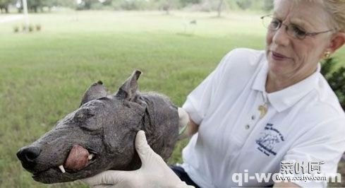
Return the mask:
<path fill-rule="evenodd" d="M 21 11 L 22 0 L 0 0 L 0 7 L 17 7 Z M 192 8 L 194 11 L 222 10 L 270 11 L 273 0 L 27 0 L 30 11 L 48 11 L 52 7 L 69 7 L 77 10 L 159 10 Z"/>

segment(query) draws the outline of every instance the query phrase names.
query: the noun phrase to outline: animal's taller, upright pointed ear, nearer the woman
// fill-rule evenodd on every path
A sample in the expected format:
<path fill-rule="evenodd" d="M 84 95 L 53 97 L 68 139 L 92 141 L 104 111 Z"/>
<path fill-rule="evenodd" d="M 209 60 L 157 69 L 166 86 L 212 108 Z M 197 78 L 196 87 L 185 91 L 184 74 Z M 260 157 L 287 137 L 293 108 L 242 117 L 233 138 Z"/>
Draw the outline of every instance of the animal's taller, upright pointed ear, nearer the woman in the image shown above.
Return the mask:
<path fill-rule="evenodd" d="M 132 75 L 123 83 L 116 93 L 116 97 L 123 98 L 125 100 L 134 100 L 138 90 L 138 78 L 141 72 L 138 70 L 133 71 Z"/>

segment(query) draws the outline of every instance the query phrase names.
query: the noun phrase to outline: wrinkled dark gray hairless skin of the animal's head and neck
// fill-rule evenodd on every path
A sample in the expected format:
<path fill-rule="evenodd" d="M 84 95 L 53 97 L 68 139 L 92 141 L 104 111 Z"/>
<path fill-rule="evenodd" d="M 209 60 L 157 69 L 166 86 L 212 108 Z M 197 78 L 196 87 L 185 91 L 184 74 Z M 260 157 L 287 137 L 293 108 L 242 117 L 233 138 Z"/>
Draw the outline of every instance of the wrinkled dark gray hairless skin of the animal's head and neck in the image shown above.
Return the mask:
<path fill-rule="evenodd" d="M 33 179 L 43 183 L 70 182 L 104 170 L 135 170 L 140 159 L 134 140 L 144 130 L 152 149 L 166 160 L 178 137 L 178 110 L 166 97 L 138 92 L 140 71 L 123 83 L 116 95 L 107 95 L 102 82 L 86 91 L 80 108 L 57 122 L 56 127 L 28 147 L 41 149 L 35 165 L 23 163 Z M 73 145 L 95 153 L 85 168 L 62 173 L 58 166 Z M 22 148 L 23 150 L 23 148 Z"/>

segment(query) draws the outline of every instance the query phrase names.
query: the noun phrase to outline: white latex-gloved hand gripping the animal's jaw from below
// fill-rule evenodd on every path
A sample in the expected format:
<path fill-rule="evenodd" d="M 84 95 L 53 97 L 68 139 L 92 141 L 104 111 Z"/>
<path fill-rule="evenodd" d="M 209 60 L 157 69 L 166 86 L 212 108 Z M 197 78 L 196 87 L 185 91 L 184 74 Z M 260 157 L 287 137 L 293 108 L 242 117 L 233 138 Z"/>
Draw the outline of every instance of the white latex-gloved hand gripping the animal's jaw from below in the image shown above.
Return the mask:
<path fill-rule="evenodd" d="M 150 148 L 144 131 L 138 131 L 135 137 L 135 149 L 142 163 L 140 169 L 107 170 L 83 181 L 92 187 L 193 187 L 182 182 L 164 160 Z"/>

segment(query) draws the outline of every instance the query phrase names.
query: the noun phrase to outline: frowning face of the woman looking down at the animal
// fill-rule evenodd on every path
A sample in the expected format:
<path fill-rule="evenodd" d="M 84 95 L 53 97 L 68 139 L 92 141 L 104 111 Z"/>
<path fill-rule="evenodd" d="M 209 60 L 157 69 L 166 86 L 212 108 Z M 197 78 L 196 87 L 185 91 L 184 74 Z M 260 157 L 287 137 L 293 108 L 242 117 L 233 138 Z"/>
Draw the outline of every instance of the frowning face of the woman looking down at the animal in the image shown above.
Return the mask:
<path fill-rule="evenodd" d="M 307 33 L 317 33 L 329 28 L 329 16 L 315 1 L 277 0 L 273 17 L 284 25 L 267 31 L 267 61 L 269 76 L 301 81 L 313 74 L 317 62 L 329 46 L 332 32 L 306 36 L 303 40 L 286 33 L 286 25 L 295 25 Z"/>

